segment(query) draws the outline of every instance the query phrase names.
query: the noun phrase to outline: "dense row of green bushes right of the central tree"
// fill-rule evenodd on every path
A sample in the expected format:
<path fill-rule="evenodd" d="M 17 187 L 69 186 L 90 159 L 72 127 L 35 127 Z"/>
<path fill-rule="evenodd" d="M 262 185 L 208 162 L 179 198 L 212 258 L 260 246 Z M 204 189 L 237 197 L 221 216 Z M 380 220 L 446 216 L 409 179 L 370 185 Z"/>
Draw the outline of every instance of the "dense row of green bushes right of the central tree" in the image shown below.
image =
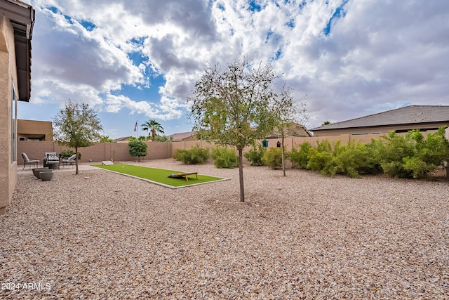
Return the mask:
<path fill-rule="evenodd" d="M 449 141 L 442 127 L 427 136 L 419 130 L 409 131 L 406 135 L 391 132 L 370 143 L 354 140 L 346 144 L 341 141 L 330 143 L 324 139 L 312 146 L 304 141 L 295 145 L 286 156 L 293 168 L 319 171 L 323 176 L 343 174 L 357 178 L 362 174 L 383 173 L 399 178 L 420 178 L 437 168 L 445 168 L 444 164 L 449 161 Z M 279 148 L 265 150 L 263 155 L 253 148 L 246 157 L 252 164 L 262 161 L 272 169 L 282 167 Z M 447 169 L 446 177 L 449 177 Z"/>

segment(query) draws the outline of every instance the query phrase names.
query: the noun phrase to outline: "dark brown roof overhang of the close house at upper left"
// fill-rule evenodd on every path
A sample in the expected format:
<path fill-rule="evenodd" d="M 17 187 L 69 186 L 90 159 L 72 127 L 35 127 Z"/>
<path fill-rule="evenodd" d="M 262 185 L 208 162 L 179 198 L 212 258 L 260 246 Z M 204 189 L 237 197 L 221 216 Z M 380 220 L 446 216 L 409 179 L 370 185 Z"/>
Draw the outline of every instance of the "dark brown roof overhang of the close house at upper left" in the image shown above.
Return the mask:
<path fill-rule="evenodd" d="M 14 30 L 18 100 L 29 101 L 31 96 L 31 39 L 34 26 L 34 8 L 18 0 L 0 0 L 0 15 L 9 19 Z"/>

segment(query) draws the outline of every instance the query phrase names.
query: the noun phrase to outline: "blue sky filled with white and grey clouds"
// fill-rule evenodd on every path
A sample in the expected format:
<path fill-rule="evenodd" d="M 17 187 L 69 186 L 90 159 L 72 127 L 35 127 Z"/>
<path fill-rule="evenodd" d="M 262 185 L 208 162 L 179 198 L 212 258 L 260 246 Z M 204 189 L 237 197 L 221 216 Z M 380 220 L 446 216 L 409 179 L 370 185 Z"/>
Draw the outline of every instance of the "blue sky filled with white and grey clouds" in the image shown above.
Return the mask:
<path fill-rule="evenodd" d="M 407 105 L 449 105 L 449 1 L 22 0 L 36 10 L 32 93 L 19 119 L 94 107 L 109 138 L 192 130 L 203 71 L 271 64 L 308 129 Z M 138 131 L 135 132 L 135 123 Z"/>

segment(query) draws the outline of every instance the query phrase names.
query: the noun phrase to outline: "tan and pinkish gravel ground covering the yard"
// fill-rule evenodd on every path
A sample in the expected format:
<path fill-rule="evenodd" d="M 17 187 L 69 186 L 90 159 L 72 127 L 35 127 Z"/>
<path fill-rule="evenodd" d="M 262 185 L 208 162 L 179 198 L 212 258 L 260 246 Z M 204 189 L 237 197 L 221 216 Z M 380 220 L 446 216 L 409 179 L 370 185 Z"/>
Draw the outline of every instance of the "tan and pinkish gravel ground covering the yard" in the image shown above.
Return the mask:
<path fill-rule="evenodd" d="M 140 165 L 230 180 L 20 172 L 0 216 L 0 298 L 449 299 L 448 181 L 246 166 L 239 203 L 238 169 Z"/>

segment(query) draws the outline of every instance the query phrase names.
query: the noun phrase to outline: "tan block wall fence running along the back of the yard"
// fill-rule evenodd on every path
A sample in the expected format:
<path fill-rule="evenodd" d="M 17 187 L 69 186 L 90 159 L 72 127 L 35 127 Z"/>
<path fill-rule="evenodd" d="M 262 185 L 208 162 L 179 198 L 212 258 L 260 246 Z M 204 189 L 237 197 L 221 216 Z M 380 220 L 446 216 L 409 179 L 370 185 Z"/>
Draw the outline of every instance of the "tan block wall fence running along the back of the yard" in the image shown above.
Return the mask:
<path fill-rule="evenodd" d="M 429 131 L 434 132 L 434 131 Z M 427 133 L 429 133 L 427 132 Z M 406 133 L 398 133 L 398 134 L 406 134 Z M 425 134 L 425 133 L 424 133 Z M 346 144 L 351 140 L 354 140 L 356 143 L 359 141 L 361 143 L 370 143 L 372 138 L 379 138 L 377 135 L 368 135 L 368 136 L 351 136 L 349 134 L 342 134 L 341 136 L 321 136 L 321 137 L 307 137 L 307 138 L 296 138 L 296 137 L 288 137 L 284 139 L 284 145 L 286 146 L 286 151 L 291 151 L 292 146 L 302 144 L 305 141 L 308 141 L 312 147 L 316 146 L 317 141 L 328 140 L 331 145 L 336 143 L 337 141 L 341 141 L 342 144 Z M 268 139 L 268 147 L 274 148 L 276 147 L 276 143 L 281 141 L 278 138 L 270 138 Z M 23 165 L 22 152 L 27 153 L 30 159 L 39 159 L 42 161 L 45 156 L 45 152 L 61 152 L 62 150 L 74 150 L 73 148 L 68 148 L 66 146 L 59 145 L 57 142 L 52 141 L 18 141 L 17 147 L 17 161 L 18 165 Z M 180 142 L 152 142 L 146 141 L 148 145 L 148 155 L 145 157 L 140 157 L 142 160 L 147 159 L 165 159 L 173 157 L 175 151 L 177 149 L 188 150 L 190 148 L 199 145 L 201 148 L 213 148 L 215 147 L 215 143 L 208 143 L 206 141 L 180 141 Z M 262 143 L 262 141 L 260 141 Z M 244 152 L 250 150 L 250 148 L 246 148 Z M 128 143 L 95 143 L 91 147 L 79 148 L 78 150 L 81 152 L 81 163 L 89 162 L 92 159 L 92 162 L 101 162 L 103 160 L 113 160 L 114 162 L 130 162 L 137 161 L 138 157 L 132 157 L 128 152 Z"/>

